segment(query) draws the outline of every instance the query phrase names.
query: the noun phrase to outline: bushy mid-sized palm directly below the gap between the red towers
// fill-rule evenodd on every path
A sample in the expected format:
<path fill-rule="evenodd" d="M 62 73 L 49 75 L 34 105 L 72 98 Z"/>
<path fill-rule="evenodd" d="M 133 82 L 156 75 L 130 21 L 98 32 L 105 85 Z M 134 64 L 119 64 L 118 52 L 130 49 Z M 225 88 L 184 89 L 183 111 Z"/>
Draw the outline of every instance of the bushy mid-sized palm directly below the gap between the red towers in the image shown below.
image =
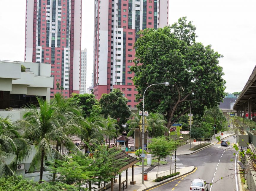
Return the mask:
<path fill-rule="evenodd" d="M 88 151 L 90 143 L 104 140 L 102 133 L 104 128 L 103 121 L 104 118 L 98 113 L 92 113 L 86 118 L 80 117 L 80 132 L 77 133 L 77 136 L 80 137 L 81 143 L 85 143 L 85 153 Z"/>

